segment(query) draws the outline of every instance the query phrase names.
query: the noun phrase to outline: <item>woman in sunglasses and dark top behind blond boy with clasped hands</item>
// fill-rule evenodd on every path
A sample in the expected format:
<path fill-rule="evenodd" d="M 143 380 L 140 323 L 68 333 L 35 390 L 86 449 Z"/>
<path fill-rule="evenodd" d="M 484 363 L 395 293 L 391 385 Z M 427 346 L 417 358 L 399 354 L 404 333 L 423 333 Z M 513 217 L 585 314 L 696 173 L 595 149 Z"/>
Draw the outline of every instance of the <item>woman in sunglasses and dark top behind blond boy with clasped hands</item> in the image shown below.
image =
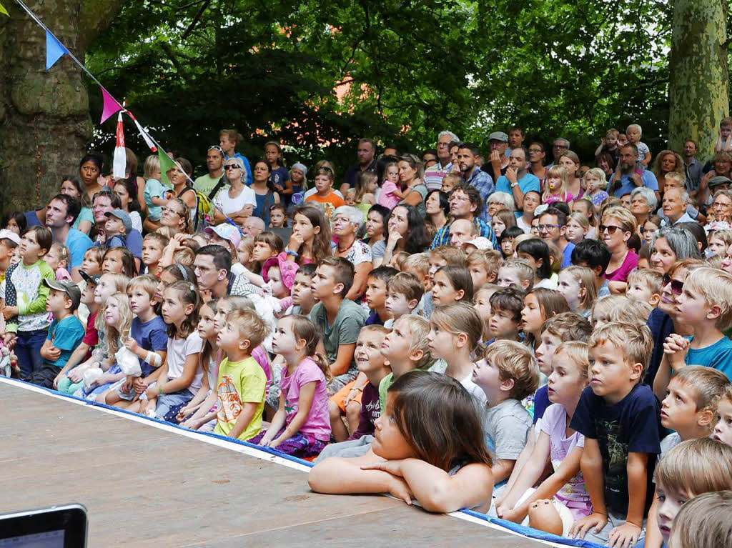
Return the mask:
<path fill-rule="evenodd" d="M 653 386 L 653 380 L 661 364 L 663 343 L 666 341 L 666 337 L 672 333 L 684 337 L 691 334 L 689 329 L 676 322 L 676 297 L 681 295 L 681 291 L 684 290 L 684 280 L 686 280 L 690 271 L 698 269 L 700 266 L 706 266 L 703 260 L 680 260 L 671 266 L 668 273 L 663 276 L 661 300 L 658 307 L 651 311 L 651 315 L 646 322 L 651 328 L 651 336 L 653 337 L 651 361 L 649 362 L 646 377 L 643 379 L 643 383 L 649 386 Z"/>

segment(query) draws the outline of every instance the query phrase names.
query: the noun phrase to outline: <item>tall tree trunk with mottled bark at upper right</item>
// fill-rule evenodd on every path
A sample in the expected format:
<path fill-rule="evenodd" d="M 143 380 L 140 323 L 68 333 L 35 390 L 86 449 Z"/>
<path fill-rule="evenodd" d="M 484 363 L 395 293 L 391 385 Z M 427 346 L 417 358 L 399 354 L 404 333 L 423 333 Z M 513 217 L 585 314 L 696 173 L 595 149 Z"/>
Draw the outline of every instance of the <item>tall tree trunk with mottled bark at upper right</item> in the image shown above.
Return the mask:
<path fill-rule="evenodd" d="M 709 158 L 729 113 L 727 0 L 674 0 L 670 72 L 669 148 L 693 139 Z"/>

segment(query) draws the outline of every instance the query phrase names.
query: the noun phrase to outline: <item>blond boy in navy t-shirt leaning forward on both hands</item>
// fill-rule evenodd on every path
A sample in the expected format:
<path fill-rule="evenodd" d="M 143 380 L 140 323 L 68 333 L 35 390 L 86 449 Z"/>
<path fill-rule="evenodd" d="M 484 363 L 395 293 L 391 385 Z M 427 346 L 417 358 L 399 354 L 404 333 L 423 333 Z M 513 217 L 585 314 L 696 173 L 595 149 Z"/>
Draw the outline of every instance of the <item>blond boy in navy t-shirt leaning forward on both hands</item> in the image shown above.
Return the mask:
<path fill-rule="evenodd" d="M 651 359 L 648 326 L 610 322 L 589 339 L 589 380 L 570 427 L 585 436 L 580 466 L 593 513 L 570 534 L 611 547 L 635 546 L 661 452 L 660 405 L 641 384 Z"/>

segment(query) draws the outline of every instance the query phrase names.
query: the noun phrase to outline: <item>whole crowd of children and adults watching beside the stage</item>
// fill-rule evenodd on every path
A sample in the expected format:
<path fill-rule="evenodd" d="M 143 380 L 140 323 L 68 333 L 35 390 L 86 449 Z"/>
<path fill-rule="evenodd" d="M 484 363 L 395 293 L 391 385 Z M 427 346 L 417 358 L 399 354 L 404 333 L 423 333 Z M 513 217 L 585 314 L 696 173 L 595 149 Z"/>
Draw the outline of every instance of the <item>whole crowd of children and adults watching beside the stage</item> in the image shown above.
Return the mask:
<path fill-rule="evenodd" d="M 320 162 L 290 205 L 308 170 L 288 173 L 267 143 L 251 187 L 266 215 L 195 233 L 169 222 L 188 219 L 187 190 L 166 196 L 149 159 L 139 257 L 133 198 L 97 223 L 77 282 L 50 230 L 9 217 L 0 334 L 17 367 L 0 372 L 314 460 L 316 492 L 472 508 L 612 547 L 728 545 L 714 539 L 729 538 L 732 502 L 732 233 L 703 226 L 703 196 L 684 198 L 697 215 L 684 226 L 664 206 L 657 233 L 638 192 L 624 207 L 624 176 L 647 206 L 660 192 L 640 128 L 622 138 L 597 152 L 610 181 L 571 151 L 540 179 L 511 156 L 510 193 L 482 196 L 455 139 L 448 165 L 386 157 L 343 194 Z"/>

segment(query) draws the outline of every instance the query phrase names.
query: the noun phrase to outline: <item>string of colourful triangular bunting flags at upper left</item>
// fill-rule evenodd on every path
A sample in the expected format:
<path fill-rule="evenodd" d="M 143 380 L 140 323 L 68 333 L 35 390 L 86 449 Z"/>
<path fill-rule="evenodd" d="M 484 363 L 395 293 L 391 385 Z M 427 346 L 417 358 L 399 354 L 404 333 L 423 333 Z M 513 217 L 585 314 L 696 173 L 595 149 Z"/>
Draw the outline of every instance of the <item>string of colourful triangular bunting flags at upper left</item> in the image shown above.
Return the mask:
<path fill-rule="evenodd" d="M 45 31 L 46 34 L 46 70 L 50 70 L 51 67 L 53 67 L 54 64 L 56 64 L 56 61 L 61 59 L 64 55 L 69 56 L 72 61 L 75 62 L 75 64 L 78 65 L 78 67 L 83 70 L 83 72 L 91 78 L 94 83 L 97 84 L 97 86 L 100 87 L 100 90 L 102 91 L 102 119 L 100 120 L 100 124 L 102 124 L 105 120 L 109 119 L 111 116 L 113 116 L 115 113 L 119 113 L 118 121 L 117 121 L 117 129 L 116 129 L 116 149 L 119 149 L 119 143 L 120 140 L 122 140 L 122 147 L 124 147 L 124 134 L 122 134 L 122 114 L 125 113 L 127 116 L 130 116 L 130 119 L 135 123 L 135 127 L 137 127 L 138 132 L 140 132 L 141 137 L 145 141 L 146 145 L 149 147 L 150 151 L 153 153 L 157 152 L 158 158 L 160 159 L 160 171 L 162 172 L 163 179 L 165 179 L 168 184 L 170 181 L 168 181 L 168 176 L 166 174 L 167 170 L 169 168 L 178 168 L 181 173 L 184 174 L 185 178 L 190 182 L 190 187 L 193 189 L 196 188 L 195 181 L 188 175 L 188 173 L 185 172 L 185 170 L 179 165 L 178 162 L 175 161 L 175 159 L 172 159 L 168 156 L 168 153 L 165 152 L 162 146 L 160 146 L 160 143 L 155 140 L 150 133 L 143 128 L 143 126 L 138 122 L 138 120 L 135 118 L 135 116 L 132 115 L 129 109 L 126 107 L 123 107 L 118 100 L 116 100 L 114 97 L 112 97 L 112 94 L 109 93 L 105 89 L 104 86 L 102 86 L 102 83 L 97 80 L 97 78 L 87 70 L 87 68 L 79 61 L 76 56 L 70 52 L 70 50 L 61 43 L 61 40 L 56 38 L 56 35 L 51 32 L 50 29 L 48 29 L 47 26 L 45 26 L 38 18 L 38 16 L 28 7 L 26 4 L 23 3 L 23 0 L 15 0 L 15 2 L 23 8 L 23 11 L 25 11 L 31 19 L 33 19 L 38 25 Z M 4 13 L 4 15 L 8 15 L 7 10 L 3 7 L 2 4 L 0 4 L 0 13 Z M 124 150 L 124 149 L 123 149 Z M 115 151 L 116 153 L 116 151 Z M 117 156 L 117 154 L 115 154 Z M 113 172 L 113 176 L 117 176 L 116 172 Z M 229 217 L 227 214 L 225 214 L 223 211 L 221 211 L 220 208 L 217 208 L 216 205 L 211 203 L 212 207 L 215 209 L 218 209 L 220 213 L 223 215 L 223 217 L 226 219 L 226 221 L 233 225 L 234 227 L 239 230 L 239 233 L 242 233 L 242 229 L 237 225 L 231 217 Z M 244 233 L 242 233 L 242 236 Z"/>

